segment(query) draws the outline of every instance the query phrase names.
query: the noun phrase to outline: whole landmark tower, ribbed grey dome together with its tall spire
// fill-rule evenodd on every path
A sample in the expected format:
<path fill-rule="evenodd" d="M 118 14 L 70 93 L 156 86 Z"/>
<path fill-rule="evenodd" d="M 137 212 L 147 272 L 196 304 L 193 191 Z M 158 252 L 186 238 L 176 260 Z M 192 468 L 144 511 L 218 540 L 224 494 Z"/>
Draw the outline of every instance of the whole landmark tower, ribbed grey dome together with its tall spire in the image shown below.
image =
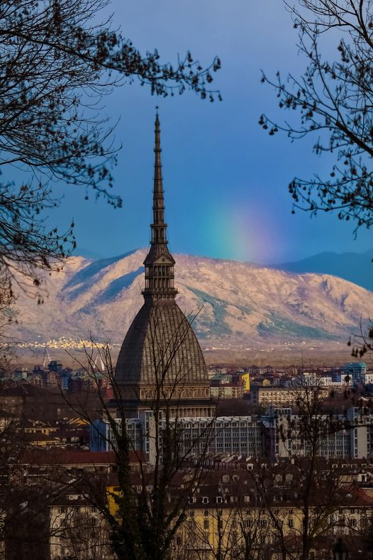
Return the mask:
<path fill-rule="evenodd" d="M 115 379 L 132 415 L 150 407 L 157 395 L 162 395 L 178 416 L 210 416 L 213 402 L 204 356 L 189 320 L 175 301 L 175 261 L 167 241 L 158 114 L 154 152 L 153 219 L 150 250 L 144 261 L 144 304 L 123 341 Z"/>

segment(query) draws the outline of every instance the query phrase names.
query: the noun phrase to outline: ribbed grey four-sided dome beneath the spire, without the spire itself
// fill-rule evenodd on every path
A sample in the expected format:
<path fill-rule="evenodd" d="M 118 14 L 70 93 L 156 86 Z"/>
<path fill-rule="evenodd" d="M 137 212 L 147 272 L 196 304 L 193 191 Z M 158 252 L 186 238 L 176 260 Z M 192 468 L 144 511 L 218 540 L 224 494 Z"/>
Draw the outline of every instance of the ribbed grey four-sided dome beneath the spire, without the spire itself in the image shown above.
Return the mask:
<path fill-rule="evenodd" d="M 116 365 L 118 385 L 199 385 L 208 382 L 204 356 L 174 300 L 143 304 L 128 329 Z"/>

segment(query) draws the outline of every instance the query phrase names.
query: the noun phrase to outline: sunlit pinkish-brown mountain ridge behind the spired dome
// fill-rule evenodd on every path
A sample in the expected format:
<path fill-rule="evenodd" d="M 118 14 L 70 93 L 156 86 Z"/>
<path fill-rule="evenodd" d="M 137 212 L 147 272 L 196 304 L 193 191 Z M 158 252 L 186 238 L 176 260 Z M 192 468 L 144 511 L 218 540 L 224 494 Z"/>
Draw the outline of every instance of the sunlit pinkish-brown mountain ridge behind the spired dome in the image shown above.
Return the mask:
<path fill-rule="evenodd" d="M 23 341 L 60 336 L 121 343 L 143 304 L 145 249 L 116 258 L 70 258 L 62 273 L 45 280 L 38 305 L 18 298 Z M 177 302 L 199 312 L 194 329 L 203 346 L 247 346 L 255 341 L 346 339 L 360 317 L 373 317 L 373 293 L 322 274 L 293 274 L 232 260 L 175 255 Z"/>

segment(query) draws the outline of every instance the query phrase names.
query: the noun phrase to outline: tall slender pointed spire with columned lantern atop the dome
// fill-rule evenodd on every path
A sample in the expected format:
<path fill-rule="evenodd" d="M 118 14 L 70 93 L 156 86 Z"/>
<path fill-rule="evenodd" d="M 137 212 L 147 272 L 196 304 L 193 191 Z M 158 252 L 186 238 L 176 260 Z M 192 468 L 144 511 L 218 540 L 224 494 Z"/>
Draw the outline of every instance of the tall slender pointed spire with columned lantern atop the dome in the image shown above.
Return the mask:
<path fill-rule="evenodd" d="M 152 236 L 150 251 L 144 260 L 145 265 L 145 300 L 174 299 L 177 290 L 174 288 L 174 259 L 169 253 L 167 241 L 167 224 L 165 223 L 165 197 L 162 181 L 162 163 L 160 147 L 160 118 L 155 115 L 155 162 L 153 187 L 153 221 L 150 224 Z"/>

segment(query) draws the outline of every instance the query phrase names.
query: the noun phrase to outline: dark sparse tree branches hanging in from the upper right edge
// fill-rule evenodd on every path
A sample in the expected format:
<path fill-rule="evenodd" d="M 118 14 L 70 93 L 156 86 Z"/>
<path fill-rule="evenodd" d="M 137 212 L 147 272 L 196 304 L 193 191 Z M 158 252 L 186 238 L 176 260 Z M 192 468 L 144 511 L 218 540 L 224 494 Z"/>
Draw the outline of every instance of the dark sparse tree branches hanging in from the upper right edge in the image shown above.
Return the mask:
<path fill-rule="evenodd" d="M 291 141 L 315 138 L 313 151 L 333 158 L 328 177 L 295 177 L 289 185 L 294 208 L 338 213 L 341 220 L 360 226 L 373 224 L 373 6 L 371 0 L 286 1 L 298 29 L 299 51 L 308 60 L 300 77 L 262 82 L 274 87 L 279 107 L 294 119 L 275 123 L 260 117 L 271 136 L 287 133 Z M 336 39 L 336 57 L 323 57 L 323 35 Z"/>

